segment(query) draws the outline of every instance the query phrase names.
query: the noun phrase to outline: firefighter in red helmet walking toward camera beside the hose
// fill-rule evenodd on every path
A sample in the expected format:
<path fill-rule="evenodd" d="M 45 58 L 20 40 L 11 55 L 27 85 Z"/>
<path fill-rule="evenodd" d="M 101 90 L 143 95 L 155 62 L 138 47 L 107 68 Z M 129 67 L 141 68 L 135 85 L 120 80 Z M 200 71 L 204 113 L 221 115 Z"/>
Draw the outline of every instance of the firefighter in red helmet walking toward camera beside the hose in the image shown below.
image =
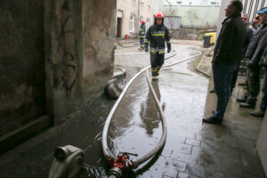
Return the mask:
<path fill-rule="evenodd" d="M 155 23 L 150 26 L 145 39 L 145 52 L 149 52 L 150 44 L 152 81 L 158 80 L 159 70 L 164 63 L 165 43 L 167 45 L 167 53 L 170 53 L 171 42 L 169 30 L 164 25 L 164 14 L 163 12 L 157 12 Z"/>

